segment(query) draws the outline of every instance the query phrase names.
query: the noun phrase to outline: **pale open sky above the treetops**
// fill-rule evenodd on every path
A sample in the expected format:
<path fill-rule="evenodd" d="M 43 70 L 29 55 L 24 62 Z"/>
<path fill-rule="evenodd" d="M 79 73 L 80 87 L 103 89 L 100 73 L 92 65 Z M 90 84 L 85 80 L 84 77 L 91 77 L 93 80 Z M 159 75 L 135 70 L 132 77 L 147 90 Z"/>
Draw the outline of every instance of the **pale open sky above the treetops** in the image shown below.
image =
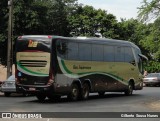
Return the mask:
<path fill-rule="evenodd" d="M 96 9 L 107 10 L 116 16 L 117 20 L 120 18 L 134 18 L 138 16 L 138 7 L 141 7 L 143 0 L 78 0 L 78 3 L 93 6 Z"/>

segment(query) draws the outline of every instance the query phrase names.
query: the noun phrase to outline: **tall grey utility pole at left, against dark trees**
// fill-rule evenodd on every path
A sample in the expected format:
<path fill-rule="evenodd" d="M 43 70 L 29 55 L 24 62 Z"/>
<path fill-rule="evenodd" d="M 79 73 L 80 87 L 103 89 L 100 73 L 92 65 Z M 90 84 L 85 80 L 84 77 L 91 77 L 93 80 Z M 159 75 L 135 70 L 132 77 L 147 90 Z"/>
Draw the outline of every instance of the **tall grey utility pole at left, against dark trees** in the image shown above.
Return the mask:
<path fill-rule="evenodd" d="M 7 77 L 12 74 L 11 68 L 11 50 L 12 50 L 12 7 L 13 7 L 13 0 L 8 1 L 9 7 L 9 19 L 8 19 L 8 44 L 7 44 Z"/>

